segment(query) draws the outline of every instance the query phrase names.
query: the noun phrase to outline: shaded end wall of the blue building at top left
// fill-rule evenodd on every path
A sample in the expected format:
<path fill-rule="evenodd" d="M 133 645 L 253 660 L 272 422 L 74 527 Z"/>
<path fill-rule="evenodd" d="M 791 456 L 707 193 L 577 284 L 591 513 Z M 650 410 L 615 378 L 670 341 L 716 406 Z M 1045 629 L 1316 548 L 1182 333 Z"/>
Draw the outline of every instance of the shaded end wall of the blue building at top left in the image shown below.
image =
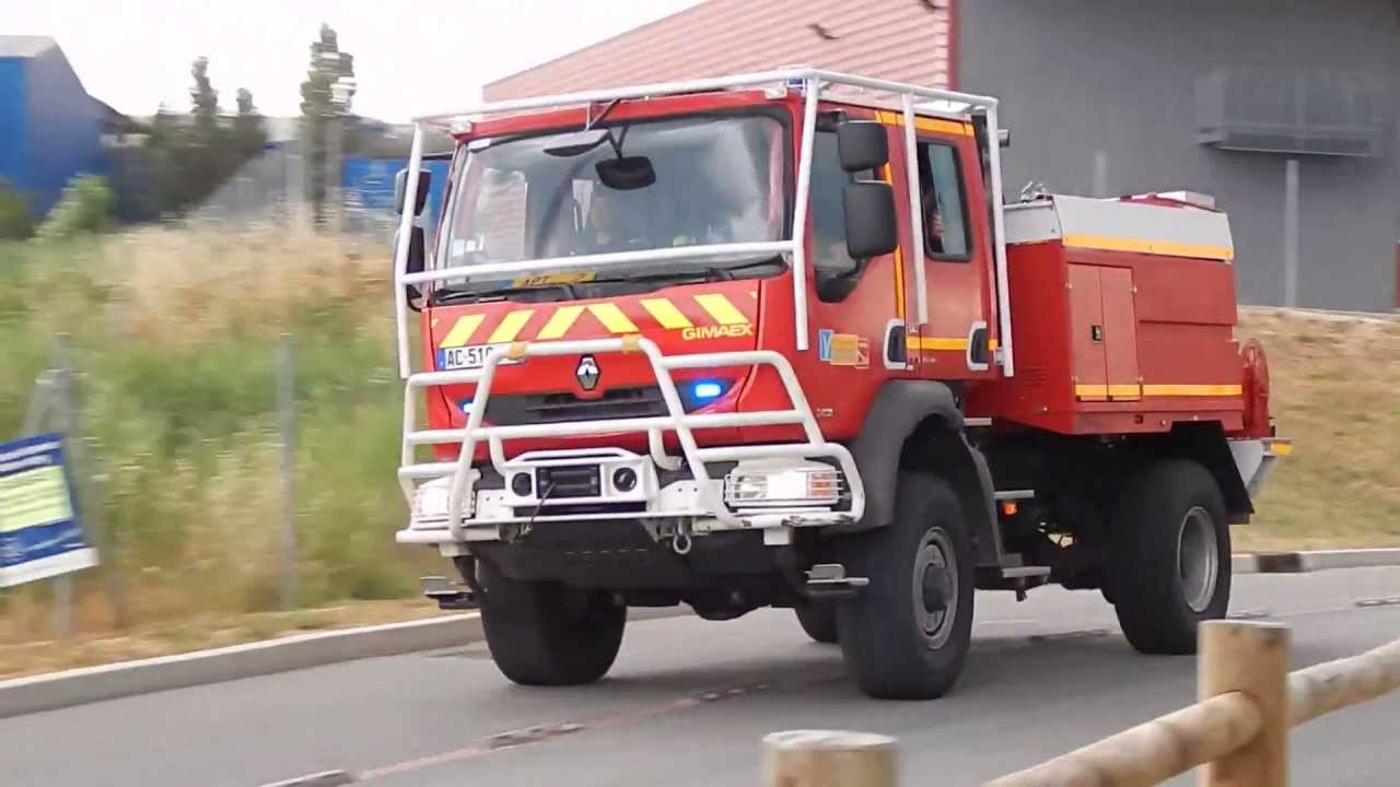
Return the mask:
<path fill-rule="evenodd" d="M 43 214 L 74 176 L 98 165 L 102 116 L 59 48 L 24 62 L 28 97 L 28 186 Z"/>

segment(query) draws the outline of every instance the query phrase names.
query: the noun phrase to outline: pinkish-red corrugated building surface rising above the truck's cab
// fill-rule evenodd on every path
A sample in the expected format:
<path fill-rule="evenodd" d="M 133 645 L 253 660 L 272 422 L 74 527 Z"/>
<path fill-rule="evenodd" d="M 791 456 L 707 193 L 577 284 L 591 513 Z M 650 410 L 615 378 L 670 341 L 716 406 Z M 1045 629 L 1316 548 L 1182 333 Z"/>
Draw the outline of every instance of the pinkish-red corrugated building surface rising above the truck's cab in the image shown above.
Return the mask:
<path fill-rule="evenodd" d="M 708 0 L 494 81 L 484 94 L 501 101 L 795 64 L 946 87 L 946 6 L 948 0 Z"/>

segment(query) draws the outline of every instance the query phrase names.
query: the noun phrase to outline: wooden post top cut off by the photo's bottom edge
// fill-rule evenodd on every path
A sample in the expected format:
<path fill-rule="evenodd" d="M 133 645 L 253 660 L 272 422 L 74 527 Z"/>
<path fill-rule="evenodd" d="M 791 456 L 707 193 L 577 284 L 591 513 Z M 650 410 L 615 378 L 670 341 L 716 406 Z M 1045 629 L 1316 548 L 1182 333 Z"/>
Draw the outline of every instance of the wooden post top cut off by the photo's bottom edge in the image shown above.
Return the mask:
<path fill-rule="evenodd" d="M 763 738 L 766 787 L 895 787 L 895 739 L 795 730 Z"/>

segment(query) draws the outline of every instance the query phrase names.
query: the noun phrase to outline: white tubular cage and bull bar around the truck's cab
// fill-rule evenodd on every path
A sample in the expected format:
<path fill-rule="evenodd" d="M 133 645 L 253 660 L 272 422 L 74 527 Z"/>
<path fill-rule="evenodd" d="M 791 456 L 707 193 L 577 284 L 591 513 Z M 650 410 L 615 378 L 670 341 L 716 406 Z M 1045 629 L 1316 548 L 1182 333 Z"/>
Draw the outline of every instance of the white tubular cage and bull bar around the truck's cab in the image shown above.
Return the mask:
<path fill-rule="evenodd" d="M 1011 377 L 1015 371 L 1014 356 L 1012 356 L 1012 340 L 1011 340 L 1011 309 L 1007 297 L 1007 245 L 1005 245 L 1005 223 L 1002 213 L 1002 185 L 1001 185 L 1001 157 L 1000 157 L 1000 133 L 997 126 L 997 99 L 972 95 L 963 92 L 953 92 L 945 90 L 934 90 L 918 87 L 906 83 L 896 83 L 888 80 L 876 80 L 858 77 L 853 74 L 841 74 L 836 71 L 825 71 L 819 69 L 785 69 L 774 71 L 762 71 L 752 74 L 738 74 L 731 77 L 718 77 L 707 80 L 689 80 L 676 83 L 661 83 L 650 85 L 637 85 L 619 90 L 602 90 L 602 91 L 588 91 L 575 92 L 554 97 L 542 98 L 525 98 L 517 101 L 503 101 L 497 104 L 484 104 L 480 106 L 473 106 L 456 112 L 445 112 L 437 115 L 424 115 L 416 118 L 414 132 L 413 132 L 413 146 L 409 155 L 409 168 L 406 174 L 406 195 L 416 195 L 419 189 L 419 172 L 423 162 L 423 134 L 426 127 L 441 127 L 452 133 L 461 133 L 463 129 L 470 127 L 470 122 L 483 115 L 497 115 L 504 112 L 519 112 L 531 109 L 550 109 L 563 106 L 588 106 L 599 102 L 610 102 L 619 99 L 640 99 L 640 98 L 657 98 L 662 95 L 682 95 L 694 92 L 708 92 L 731 88 L 766 88 L 769 95 L 773 98 L 780 98 L 787 94 L 788 90 L 797 87 L 804 94 L 804 112 L 802 112 L 802 147 L 798 160 L 797 171 L 797 193 L 794 199 L 794 216 L 792 216 L 792 237 L 785 241 L 773 242 L 742 242 L 742 244 L 708 244 L 697 246 L 682 246 L 682 248 L 664 248 L 664 249 L 650 249 L 650 251 L 633 251 L 633 252 L 619 252 L 619 253 L 594 253 L 568 258 L 552 258 L 552 259 L 533 259 L 533 260 L 518 260 L 518 262 L 503 262 L 503 263 L 484 263 L 484 265 L 470 265 L 470 266 L 454 266 L 454 267 L 437 267 L 428 269 L 419 273 L 407 272 L 407 256 L 409 256 L 409 239 L 414 223 L 414 213 L 405 209 L 399 224 L 399 244 L 395 249 L 395 266 L 393 266 L 393 280 L 395 280 L 395 318 L 398 323 L 398 354 L 399 354 L 399 375 L 406 381 L 405 385 L 405 410 L 403 410 L 403 448 L 402 448 L 402 465 L 399 468 L 399 480 L 403 486 L 405 496 L 409 500 L 410 507 L 414 503 L 414 489 L 413 483 L 416 479 L 428 478 L 444 478 L 451 476 L 451 492 L 448 496 L 448 521 L 445 522 L 445 531 L 451 541 L 466 541 L 466 534 L 463 528 L 463 510 L 470 507 L 472 503 L 472 487 L 475 480 L 479 478 L 479 472 L 472 468 L 473 455 L 476 445 L 480 440 L 486 440 L 490 448 L 490 461 L 497 468 L 497 471 L 504 472 L 510 469 L 514 462 L 508 461 L 504 455 L 504 448 L 501 445 L 503 440 L 511 438 L 531 438 L 531 437 L 560 437 L 560 436 L 584 436 L 584 434 L 605 434 L 617 431 L 645 431 L 648 436 L 648 445 L 651 459 L 658 468 L 676 469 L 679 466 L 679 459 L 673 457 L 666 457 L 662 444 L 662 434 L 665 431 L 675 431 L 678 441 L 680 444 L 682 452 L 685 454 L 685 461 L 689 465 L 694 482 L 697 485 L 697 497 L 704 504 L 707 511 L 701 510 L 687 510 L 687 511 L 655 511 L 648 515 L 696 515 L 708 517 L 710 521 L 718 522 L 721 525 L 736 525 L 736 517 L 727 508 L 724 501 L 720 499 L 718 492 L 714 487 L 713 479 L 708 478 L 706 472 L 706 461 L 735 461 L 735 459 L 757 459 L 757 458 L 826 458 L 834 461 L 841 466 L 841 471 L 848 483 L 848 490 L 851 493 L 851 507 L 848 511 L 841 513 L 840 517 L 848 520 L 860 520 L 861 511 L 864 508 L 864 489 L 858 472 L 855 472 L 854 461 L 850 452 L 839 444 L 826 443 L 822 438 L 820 430 L 816 426 L 816 420 L 812 416 L 811 408 L 806 403 L 806 398 L 797 381 L 792 367 L 788 358 L 773 350 L 755 350 L 755 351 L 739 351 L 739 353 L 703 353 L 703 354 L 686 354 L 686 356 L 664 356 L 657 346 L 648 339 L 640 336 L 629 336 L 622 339 L 599 339 L 599 340 L 575 340 L 575 342 L 539 342 L 539 343 L 519 343 L 511 347 L 497 347 L 491 350 L 484 361 L 483 368 L 479 370 L 461 370 L 461 371 L 428 371 L 417 372 L 412 371 L 410 349 L 409 349 L 409 302 L 406 286 L 409 284 L 424 284 L 431 281 L 441 281 L 447 279 L 463 279 L 483 274 L 528 274 L 545 270 L 560 270 L 568 267 L 609 267 L 636 262 L 652 262 L 652 260 L 675 260 L 675 259 L 710 259 L 722 255 L 735 253 L 766 253 L 766 255 L 785 255 L 792 266 L 792 298 L 794 298 L 794 337 L 798 351 L 806 351 L 809 349 L 808 336 L 808 291 L 806 291 L 806 256 L 805 256 L 805 234 L 806 234 L 806 216 L 808 216 L 808 202 L 809 202 L 809 186 L 812 174 L 812 147 L 815 140 L 816 129 L 816 111 L 820 94 L 826 87 L 851 87 L 865 91 L 874 91 L 878 94 L 895 94 L 900 97 L 900 111 L 903 112 L 904 125 L 904 143 L 906 143 L 906 165 L 907 165 L 907 182 L 909 188 L 909 207 L 910 216 L 914 217 L 911 225 L 914 228 L 914 252 L 913 259 L 920 260 L 914 265 L 916 274 L 916 314 L 920 325 L 928 322 L 928 294 L 924 286 L 924 266 L 923 255 L 918 253 L 924 248 L 924 224 L 918 221 L 920 216 L 920 196 L 918 196 L 918 158 L 916 155 L 916 112 L 920 108 L 931 113 L 941 116 L 953 116 L 959 119 L 970 119 L 972 111 L 980 111 L 986 118 L 986 150 L 988 157 L 988 168 L 991 171 L 991 213 L 993 213 L 993 238 L 995 249 L 995 286 L 997 286 L 997 311 L 998 311 L 998 329 L 1000 329 L 1000 343 L 1001 347 L 997 353 L 998 361 L 1002 367 L 1002 374 Z M 916 104 L 916 99 L 946 102 L 949 105 L 963 105 L 962 112 L 946 112 L 942 109 L 930 109 L 927 105 Z M 872 106 L 888 106 L 883 102 L 871 102 L 864 95 L 847 95 L 843 94 L 840 101 L 857 105 L 872 105 Z M 406 199 L 406 206 L 412 204 L 412 197 Z M 666 403 L 666 416 L 652 416 L 640 419 L 616 419 L 616 420 L 602 420 L 602 422 L 580 422 L 580 423 L 563 423 L 563 424 L 524 424 L 511 427 L 493 427 L 482 426 L 482 417 L 486 410 L 486 399 L 490 395 L 491 379 L 497 365 L 507 357 L 515 360 L 525 360 L 535 356 L 559 356 L 559 354 L 578 354 L 578 353 L 641 353 L 644 354 L 658 381 L 662 398 Z M 771 412 L 755 412 L 755 413 L 720 413 L 720 415 L 689 415 L 685 413 L 679 394 L 676 392 L 675 382 L 671 378 L 671 371 L 676 368 L 700 368 L 700 367 L 732 367 L 732 365 L 771 365 L 780 375 L 784 388 L 787 389 L 791 408 L 787 410 L 771 410 Z M 470 412 L 468 413 L 468 423 L 465 429 L 461 430 L 417 430 L 417 413 L 414 406 L 414 398 L 419 394 L 419 388 L 435 386 L 435 385 L 459 385 L 459 384 L 476 384 L 477 395 L 473 396 Z M 770 424 L 794 424 L 801 426 L 805 431 L 805 441 L 787 445 L 736 445 L 736 447 L 721 447 L 721 448 L 700 448 L 696 444 L 692 430 L 693 429 L 714 429 L 714 427 L 731 427 L 731 426 L 770 426 Z M 461 443 L 462 450 L 459 452 L 458 461 L 442 462 L 442 464 L 414 464 L 414 451 L 419 445 L 424 444 L 442 444 L 442 443 Z M 757 522 L 759 527 L 773 527 L 777 524 L 827 524 L 833 521 L 832 518 L 823 518 L 819 515 L 811 515 L 804 522 L 801 521 L 801 513 L 798 514 L 783 514 L 783 515 L 766 515 L 757 513 L 748 517 L 750 522 Z M 410 531 L 400 532 L 400 541 L 438 541 L 437 536 L 428 536 L 423 534 L 421 539 L 417 536 L 407 536 Z"/>

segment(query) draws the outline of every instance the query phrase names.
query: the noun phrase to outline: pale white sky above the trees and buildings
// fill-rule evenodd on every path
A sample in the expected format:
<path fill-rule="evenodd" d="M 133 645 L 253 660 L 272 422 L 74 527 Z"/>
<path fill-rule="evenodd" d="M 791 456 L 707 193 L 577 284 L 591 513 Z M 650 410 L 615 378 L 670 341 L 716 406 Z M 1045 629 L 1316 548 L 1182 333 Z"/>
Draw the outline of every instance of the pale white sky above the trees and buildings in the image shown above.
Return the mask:
<path fill-rule="evenodd" d="M 189 67 L 203 55 L 225 111 L 244 87 L 263 115 L 291 116 L 326 22 L 354 55 L 354 111 L 403 122 L 475 104 L 491 80 L 696 3 L 0 0 L 0 35 L 53 36 L 88 94 L 127 115 L 188 109 Z"/>

